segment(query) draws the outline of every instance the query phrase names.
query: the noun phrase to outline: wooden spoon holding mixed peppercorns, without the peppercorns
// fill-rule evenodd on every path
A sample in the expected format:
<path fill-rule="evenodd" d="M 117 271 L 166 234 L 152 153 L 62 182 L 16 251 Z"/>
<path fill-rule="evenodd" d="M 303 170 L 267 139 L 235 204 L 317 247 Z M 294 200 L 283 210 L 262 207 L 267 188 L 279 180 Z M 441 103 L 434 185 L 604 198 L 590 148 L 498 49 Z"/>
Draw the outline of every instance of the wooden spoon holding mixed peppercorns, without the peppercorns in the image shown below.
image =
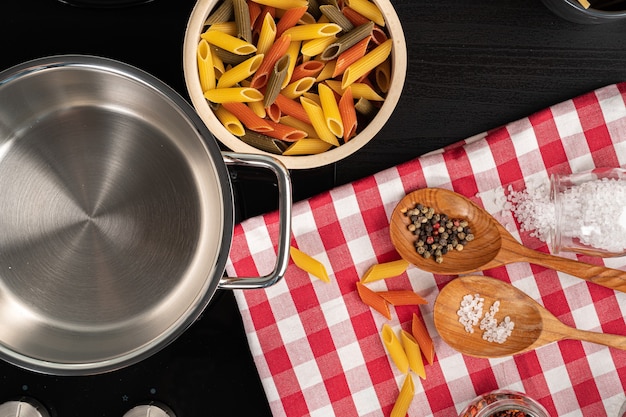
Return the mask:
<path fill-rule="evenodd" d="M 402 213 L 404 208 L 413 208 L 416 203 L 432 207 L 435 212 L 451 218 L 466 219 L 475 239 L 460 252 L 448 252 L 442 263 L 422 257 L 415 250 L 415 235 L 407 229 L 411 220 Z M 468 198 L 441 188 L 423 188 L 406 195 L 391 215 L 390 235 L 402 258 L 433 274 L 461 275 L 513 262 L 529 262 L 626 292 L 626 272 L 527 248 Z"/>

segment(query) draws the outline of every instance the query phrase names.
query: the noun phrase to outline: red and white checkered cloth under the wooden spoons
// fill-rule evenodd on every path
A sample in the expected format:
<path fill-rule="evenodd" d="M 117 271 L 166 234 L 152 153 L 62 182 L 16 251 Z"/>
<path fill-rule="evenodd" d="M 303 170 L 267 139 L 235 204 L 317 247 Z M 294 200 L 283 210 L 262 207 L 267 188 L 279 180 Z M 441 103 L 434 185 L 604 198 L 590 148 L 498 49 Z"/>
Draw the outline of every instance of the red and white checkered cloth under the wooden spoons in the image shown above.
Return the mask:
<path fill-rule="evenodd" d="M 419 307 L 391 307 L 391 320 L 361 302 L 356 282 L 371 265 L 399 258 L 389 218 L 406 193 L 422 187 L 470 197 L 526 246 L 548 251 L 502 210 L 503 190 L 509 185 L 522 190 L 553 172 L 625 166 L 625 101 L 626 83 L 600 88 L 295 203 L 292 244 L 321 261 L 331 283 L 290 264 L 277 285 L 235 293 L 274 416 L 388 416 L 404 375 L 392 364 L 380 331 L 385 323 L 396 331 L 410 329 L 414 312 L 433 337 L 436 358 L 426 366 L 426 380 L 413 376 L 409 416 L 457 416 L 476 395 L 496 388 L 526 392 L 552 416 L 616 416 L 625 400 L 626 351 L 566 340 L 515 357 L 464 356 L 433 326 L 434 300 L 454 277 L 411 266 L 399 277 L 374 283 L 375 290 L 412 289 L 428 300 Z M 236 226 L 229 275 L 272 269 L 277 221 L 277 214 L 269 213 Z M 605 263 L 626 270 L 625 258 Z M 626 294 L 527 263 L 485 275 L 510 281 L 566 324 L 626 335 Z"/>

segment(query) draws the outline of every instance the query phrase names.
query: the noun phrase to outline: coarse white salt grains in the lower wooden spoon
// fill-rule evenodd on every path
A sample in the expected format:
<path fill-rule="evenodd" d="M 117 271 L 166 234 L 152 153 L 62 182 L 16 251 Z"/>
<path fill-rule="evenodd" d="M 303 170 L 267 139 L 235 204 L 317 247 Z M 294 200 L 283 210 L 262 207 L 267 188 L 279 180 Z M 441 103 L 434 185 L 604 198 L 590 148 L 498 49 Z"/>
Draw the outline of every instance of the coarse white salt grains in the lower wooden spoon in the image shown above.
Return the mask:
<path fill-rule="evenodd" d="M 461 307 L 457 311 L 459 322 L 465 327 L 468 333 L 474 333 L 474 326 L 480 321 L 479 328 L 483 330 L 483 339 L 488 342 L 504 343 L 511 335 L 515 323 L 509 316 L 506 316 L 500 323 L 495 315 L 500 310 L 500 301 L 496 300 L 489 311 L 483 317 L 483 306 L 485 299 L 479 294 L 467 294 L 461 300 Z M 481 319 L 482 317 L 482 319 Z"/>

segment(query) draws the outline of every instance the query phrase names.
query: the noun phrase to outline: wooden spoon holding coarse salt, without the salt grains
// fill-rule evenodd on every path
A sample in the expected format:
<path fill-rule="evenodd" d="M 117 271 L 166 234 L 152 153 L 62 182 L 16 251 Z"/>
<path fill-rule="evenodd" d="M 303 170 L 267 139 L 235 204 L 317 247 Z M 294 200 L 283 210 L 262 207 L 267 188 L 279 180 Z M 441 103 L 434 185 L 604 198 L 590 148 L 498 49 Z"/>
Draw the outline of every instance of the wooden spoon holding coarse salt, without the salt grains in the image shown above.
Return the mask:
<path fill-rule="evenodd" d="M 496 300 L 500 309 L 495 318 L 500 322 L 509 316 L 514 323 L 511 335 L 503 343 L 483 340 L 483 331 L 465 331 L 457 311 L 465 295 L 484 298 L 483 313 Z M 435 328 L 453 349 L 470 356 L 497 358 L 536 349 L 563 339 L 584 340 L 626 350 L 626 336 L 579 330 L 560 322 L 552 313 L 523 291 L 503 281 L 485 276 L 463 276 L 450 281 L 439 293 L 434 307 Z"/>

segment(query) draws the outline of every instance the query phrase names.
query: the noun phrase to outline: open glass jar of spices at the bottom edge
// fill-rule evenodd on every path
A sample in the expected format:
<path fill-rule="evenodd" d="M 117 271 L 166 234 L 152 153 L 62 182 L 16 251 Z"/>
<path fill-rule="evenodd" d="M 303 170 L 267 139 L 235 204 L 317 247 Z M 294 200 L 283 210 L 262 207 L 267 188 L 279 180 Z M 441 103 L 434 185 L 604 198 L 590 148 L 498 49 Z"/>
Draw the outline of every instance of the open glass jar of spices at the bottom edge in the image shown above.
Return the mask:
<path fill-rule="evenodd" d="M 495 390 L 476 397 L 459 417 L 550 417 L 546 409 L 526 394 Z"/>

